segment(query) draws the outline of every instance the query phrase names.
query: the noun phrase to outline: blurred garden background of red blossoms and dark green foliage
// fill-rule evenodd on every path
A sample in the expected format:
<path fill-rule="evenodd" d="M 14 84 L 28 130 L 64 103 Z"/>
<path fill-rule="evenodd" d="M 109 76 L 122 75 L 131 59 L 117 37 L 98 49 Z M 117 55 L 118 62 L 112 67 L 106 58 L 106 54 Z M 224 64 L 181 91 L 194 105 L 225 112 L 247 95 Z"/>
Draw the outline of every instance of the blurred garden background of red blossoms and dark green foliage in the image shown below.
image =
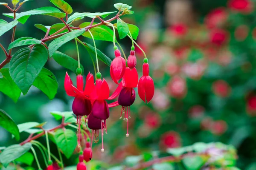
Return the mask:
<path fill-rule="evenodd" d="M 9 0 L 10 1 L 10 0 Z M 3 2 L 10 3 L 8 0 Z M 101 142 L 93 144 L 93 159 L 108 164 L 119 164 L 127 156 L 170 147 L 182 147 L 195 142 L 223 142 L 233 144 L 238 150 L 238 167 L 256 169 L 256 10 L 255 0 L 66 0 L 75 12 L 114 11 L 114 3 L 126 3 L 135 11 L 122 17 L 127 23 L 137 25 L 140 34 L 137 43 L 145 50 L 150 74 L 155 83 L 152 101 L 145 105 L 138 97 L 131 106 L 131 121 L 126 135 L 126 124 L 119 119 L 121 106 L 111 109 L 108 135 L 105 135 L 105 152 Z M 52 6 L 47 0 L 34 0 L 23 5 L 20 11 L 42 6 Z M 1 7 L 2 13 L 9 13 Z M 11 21 L 0 16 L 1 19 Z M 79 26 L 81 22 L 74 23 Z M 18 24 L 18 37 L 43 38 L 44 32 L 34 24 L 50 26 L 61 23 L 49 16 L 31 16 L 25 25 Z M 7 47 L 11 31 L 0 37 Z M 92 43 L 81 37 L 81 40 Z M 128 56 L 131 40 L 119 41 Z M 113 44 L 96 41 L 96 46 L 113 59 Z M 59 50 L 76 59 L 74 42 Z M 93 72 L 87 51 L 79 46 L 84 72 Z M 142 75 L 143 54 L 135 48 L 137 70 Z M 13 52 L 14 54 L 14 52 Z M 1 61 L 4 59 L 0 51 Z M 59 124 L 49 111 L 71 111 L 73 98 L 64 91 L 67 69 L 53 59 L 46 67 L 59 84 L 55 99 L 49 100 L 32 87 L 26 96 L 15 104 L 0 94 L 0 108 L 17 124 L 23 122 L 48 122 L 45 128 Z M 102 76 L 110 88 L 109 68 L 100 62 Z M 68 71 L 71 79 L 76 75 Z M 23 134 L 22 140 L 25 140 Z M 39 139 L 42 143 L 44 140 Z M 12 136 L 0 127 L 0 146 L 15 143 Z M 52 150 L 55 146 L 53 143 Z M 57 154 L 56 154 L 57 155 Z M 40 156 L 39 156 L 40 157 Z M 74 164 L 77 155 L 65 160 Z"/>

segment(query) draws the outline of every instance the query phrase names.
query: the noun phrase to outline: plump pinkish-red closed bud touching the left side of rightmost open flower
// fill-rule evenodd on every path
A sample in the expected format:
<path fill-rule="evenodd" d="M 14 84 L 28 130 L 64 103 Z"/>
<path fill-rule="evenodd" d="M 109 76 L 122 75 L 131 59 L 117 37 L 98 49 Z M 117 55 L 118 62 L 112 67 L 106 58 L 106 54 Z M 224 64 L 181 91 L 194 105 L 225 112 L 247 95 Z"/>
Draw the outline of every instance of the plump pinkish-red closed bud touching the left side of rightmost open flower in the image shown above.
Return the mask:
<path fill-rule="evenodd" d="M 119 50 L 115 50 L 115 58 L 111 62 L 110 66 L 110 75 L 116 84 L 119 84 L 118 81 L 122 79 L 123 75 L 125 74 L 125 59 L 121 57 L 121 53 Z"/>

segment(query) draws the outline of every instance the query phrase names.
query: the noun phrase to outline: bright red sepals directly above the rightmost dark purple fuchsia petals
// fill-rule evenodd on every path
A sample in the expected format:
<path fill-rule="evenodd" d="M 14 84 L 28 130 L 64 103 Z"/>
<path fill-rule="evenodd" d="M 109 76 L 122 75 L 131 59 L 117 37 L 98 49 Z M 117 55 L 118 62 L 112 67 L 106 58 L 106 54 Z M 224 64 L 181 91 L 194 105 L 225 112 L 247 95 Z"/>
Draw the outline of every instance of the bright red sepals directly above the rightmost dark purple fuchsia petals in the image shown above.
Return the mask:
<path fill-rule="evenodd" d="M 125 81 L 125 87 L 127 88 L 136 88 L 138 84 L 138 72 L 136 68 L 130 69 L 125 68 L 125 75 L 124 75 L 124 81 Z"/>

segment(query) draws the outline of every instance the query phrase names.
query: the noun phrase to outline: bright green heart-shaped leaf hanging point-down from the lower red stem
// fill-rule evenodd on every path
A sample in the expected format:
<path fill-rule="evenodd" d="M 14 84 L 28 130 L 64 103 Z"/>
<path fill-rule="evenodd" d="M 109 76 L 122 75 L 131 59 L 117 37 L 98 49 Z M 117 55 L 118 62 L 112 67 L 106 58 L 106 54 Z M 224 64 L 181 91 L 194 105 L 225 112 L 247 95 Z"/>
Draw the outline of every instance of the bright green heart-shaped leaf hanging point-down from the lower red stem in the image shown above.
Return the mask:
<path fill-rule="evenodd" d="M 76 133 L 70 129 L 58 129 L 55 132 L 55 141 L 67 158 L 70 158 L 77 145 Z"/>

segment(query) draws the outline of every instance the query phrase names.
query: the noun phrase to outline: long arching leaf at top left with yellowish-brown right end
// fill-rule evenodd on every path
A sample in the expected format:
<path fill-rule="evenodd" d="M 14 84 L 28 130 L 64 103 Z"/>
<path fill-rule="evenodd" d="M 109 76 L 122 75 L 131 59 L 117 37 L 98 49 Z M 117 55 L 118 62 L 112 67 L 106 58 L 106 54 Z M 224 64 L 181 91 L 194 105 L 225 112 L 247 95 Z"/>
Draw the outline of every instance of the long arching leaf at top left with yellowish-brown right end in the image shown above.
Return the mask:
<path fill-rule="evenodd" d="M 61 12 L 57 8 L 48 6 L 48 7 L 32 9 L 30 11 L 21 12 L 20 14 L 18 14 L 16 16 L 14 21 L 17 21 L 19 18 L 24 17 L 24 16 L 38 15 L 38 14 L 49 15 L 49 16 L 57 17 L 57 18 L 64 18 L 66 16 L 65 13 Z"/>

